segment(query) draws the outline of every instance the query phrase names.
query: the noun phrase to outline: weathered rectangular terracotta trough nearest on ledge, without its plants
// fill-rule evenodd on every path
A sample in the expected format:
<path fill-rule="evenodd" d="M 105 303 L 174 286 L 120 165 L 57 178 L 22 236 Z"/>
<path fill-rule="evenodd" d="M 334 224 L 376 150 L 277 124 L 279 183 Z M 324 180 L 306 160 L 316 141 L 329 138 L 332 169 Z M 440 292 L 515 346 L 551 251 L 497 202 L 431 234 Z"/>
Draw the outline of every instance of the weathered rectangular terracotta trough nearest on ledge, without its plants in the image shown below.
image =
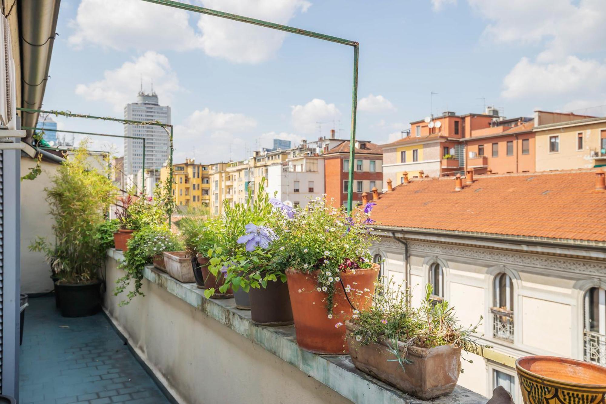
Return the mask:
<path fill-rule="evenodd" d="M 395 355 L 388 352 L 387 342 L 362 345 L 353 337 L 355 326 L 345 323 L 347 346 L 356 368 L 419 399 L 428 400 L 453 392 L 461 373 L 461 347 L 454 345 L 418 348 L 410 346 L 406 358 L 412 363 L 404 369 Z M 404 343 L 398 342 L 401 352 Z"/>

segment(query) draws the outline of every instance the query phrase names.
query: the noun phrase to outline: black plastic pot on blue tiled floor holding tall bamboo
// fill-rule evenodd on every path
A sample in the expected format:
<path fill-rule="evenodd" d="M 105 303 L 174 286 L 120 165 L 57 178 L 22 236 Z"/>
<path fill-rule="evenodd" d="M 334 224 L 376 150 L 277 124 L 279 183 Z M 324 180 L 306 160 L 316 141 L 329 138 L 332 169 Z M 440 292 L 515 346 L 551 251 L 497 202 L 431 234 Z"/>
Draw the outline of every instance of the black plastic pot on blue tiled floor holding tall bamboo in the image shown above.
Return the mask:
<path fill-rule="evenodd" d="M 101 311 L 101 281 L 55 284 L 63 317 L 87 317 Z"/>

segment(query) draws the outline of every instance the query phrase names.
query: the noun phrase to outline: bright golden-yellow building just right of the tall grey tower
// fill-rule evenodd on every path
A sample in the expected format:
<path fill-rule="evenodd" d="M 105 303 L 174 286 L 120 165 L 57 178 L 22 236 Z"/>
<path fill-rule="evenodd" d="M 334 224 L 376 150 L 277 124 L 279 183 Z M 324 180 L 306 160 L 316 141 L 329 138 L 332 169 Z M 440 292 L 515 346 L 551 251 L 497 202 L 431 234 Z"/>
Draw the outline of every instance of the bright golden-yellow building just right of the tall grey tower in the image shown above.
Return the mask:
<path fill-rule="evenodd" d="M 160 180 L 168 177 L 168 167 L 160 170 Z M 178 207 L 210 206 L 210 167 L 196 164 L 193 158 L 173 164 L 173 196 Z"/>

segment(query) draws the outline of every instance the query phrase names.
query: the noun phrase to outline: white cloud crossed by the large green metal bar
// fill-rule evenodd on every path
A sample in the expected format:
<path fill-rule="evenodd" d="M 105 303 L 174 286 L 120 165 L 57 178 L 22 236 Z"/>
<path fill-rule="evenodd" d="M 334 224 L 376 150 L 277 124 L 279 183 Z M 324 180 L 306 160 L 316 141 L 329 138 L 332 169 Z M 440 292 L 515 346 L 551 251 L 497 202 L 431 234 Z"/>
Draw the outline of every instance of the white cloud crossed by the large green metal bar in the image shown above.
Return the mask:
<path fill-rule="evenodd" d="M 288 24 L 311 3 L 305 0 L 202 0 L 204 7 L 245 15 L 278 24 Z M 209 56 L 237 63 L 259 63 L 282 46 L 286 33 L 224 18 L 201 15 L 202 49 Z"/>

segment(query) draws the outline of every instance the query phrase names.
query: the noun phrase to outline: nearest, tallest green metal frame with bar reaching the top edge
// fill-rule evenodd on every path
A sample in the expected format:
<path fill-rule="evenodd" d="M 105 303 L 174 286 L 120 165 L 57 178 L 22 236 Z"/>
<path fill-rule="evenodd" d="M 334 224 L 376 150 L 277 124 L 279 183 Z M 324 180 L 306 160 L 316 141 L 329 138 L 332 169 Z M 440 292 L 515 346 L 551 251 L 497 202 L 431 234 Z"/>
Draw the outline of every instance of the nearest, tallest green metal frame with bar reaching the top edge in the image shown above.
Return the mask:
<path fill-rule="evenodd" d="M 199 7 L 197 5 L 184 4 L 178 1 L 171 0 L 142 0 L 159 5 L 167 5 L 168 7 L 181 8 L 181 10 L 187 10 L 190 12 L 201 13 L 212 15 L 220 18 L 227 18 L 234 21 L 245 22 L 247 24 L 259 25 L 270 29 L 280 30 L 284 32 L 290 32 L 297 35 L 310 36 L 311 38 L 322 39 L 323 41 L 335 42 L 341 45 L 348 45 L 353 47 L 353 90 L 351 92 L 351 135 L 350 135 L 350 147 L 349 147 L 349 182 L 347 187 L 347 212 L 351 212 L 352 209 L 352 195 L 353 195 L 353 172 L 355 164 L 355 152 L 356 152 L 356 115 L 358 114 L 358 58 L 360 44 L 356 41 L 350 41 L 349 39 L 337 38 L 336 36 L 324 35 L 318 32 L 312 32 L 303 30 L 295 27 L 289 27 L 288 25 L 275 24 L 269 21 L 263 21 L 261 19 L 248 18 L 241 15 L 224 13 L 217 10 L 211 10 L 210 8 Z"/>

